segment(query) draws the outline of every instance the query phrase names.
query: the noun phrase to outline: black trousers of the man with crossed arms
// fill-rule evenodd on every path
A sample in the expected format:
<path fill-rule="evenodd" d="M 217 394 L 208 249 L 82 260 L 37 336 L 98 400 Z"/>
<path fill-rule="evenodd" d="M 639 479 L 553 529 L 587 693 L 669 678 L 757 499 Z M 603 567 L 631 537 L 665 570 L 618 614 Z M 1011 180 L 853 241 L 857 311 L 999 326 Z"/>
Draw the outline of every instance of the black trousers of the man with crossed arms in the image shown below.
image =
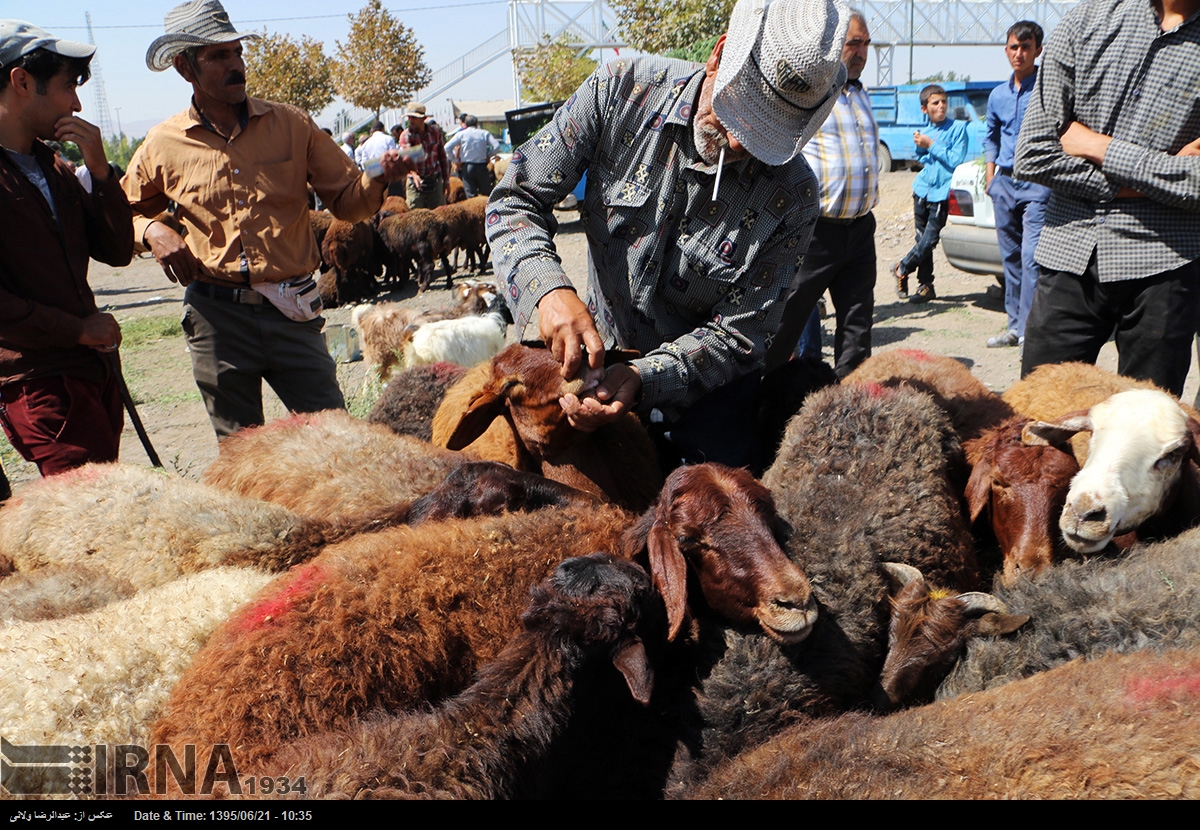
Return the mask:
<path fill-rule="evenodd" d="M 1141 279 L 1102 283 L 1096 255 L 1079 273 L 1042 270 L 1025 327 L 1021 377 L 1044 363 L 1094 363 L 1116 336 L 1117 372 L 1178 397 L 1200 315 L 1200 260 Z"/>

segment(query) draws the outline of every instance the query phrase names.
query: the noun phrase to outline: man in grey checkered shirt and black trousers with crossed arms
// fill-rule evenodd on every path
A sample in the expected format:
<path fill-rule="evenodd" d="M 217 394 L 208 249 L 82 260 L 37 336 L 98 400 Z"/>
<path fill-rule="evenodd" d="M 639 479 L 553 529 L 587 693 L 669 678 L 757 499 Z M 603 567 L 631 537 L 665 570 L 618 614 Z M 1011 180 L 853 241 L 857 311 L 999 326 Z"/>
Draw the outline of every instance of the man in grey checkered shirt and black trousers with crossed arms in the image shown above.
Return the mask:
<path fill-rule="evenodd" d="M 1050 187 L 1021 374 L 1093 362 L 1178 395 L 1200 314 L 1200 0 L 1087 0 L 1051 34 L 1015 175 Z"/>

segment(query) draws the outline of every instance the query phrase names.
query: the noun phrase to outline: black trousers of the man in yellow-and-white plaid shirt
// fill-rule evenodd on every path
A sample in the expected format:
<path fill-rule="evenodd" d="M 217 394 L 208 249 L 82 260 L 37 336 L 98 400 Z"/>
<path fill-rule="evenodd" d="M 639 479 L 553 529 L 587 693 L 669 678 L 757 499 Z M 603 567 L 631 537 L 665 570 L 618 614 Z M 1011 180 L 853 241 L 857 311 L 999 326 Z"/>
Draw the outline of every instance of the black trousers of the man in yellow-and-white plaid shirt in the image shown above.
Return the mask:
<path fill-rule="evenodd" d="M 875 266 L 874 213 L 850 223 L 817 219 L 797 277 L 796 293 L 788 299 L 784 323 L 767 350 L 767 369 L 782 365 L 791 356 L 826 289 L 829 289 L 838 320 L 833 337 L 838 377 L 845 378 L 870 357 Z"/>

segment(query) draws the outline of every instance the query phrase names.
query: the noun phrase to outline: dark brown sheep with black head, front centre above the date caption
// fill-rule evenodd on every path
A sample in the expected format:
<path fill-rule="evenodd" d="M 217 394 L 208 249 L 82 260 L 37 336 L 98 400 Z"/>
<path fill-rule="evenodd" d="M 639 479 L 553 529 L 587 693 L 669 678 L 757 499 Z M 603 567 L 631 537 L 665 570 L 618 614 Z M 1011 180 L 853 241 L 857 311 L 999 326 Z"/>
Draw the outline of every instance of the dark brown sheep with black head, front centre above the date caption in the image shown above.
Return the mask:
<path fill-rule="evenodd" d="M 614 668 L 625 693 L 649 703 L 644 640 L 661 636 L 660 621 L 637 565 L 601 553 L 569 559 L 533 589 L 523 630 L 469 688 L 432 712 L 377 712 L 296 741 L 266 772 L 304 777 L 304 798 L 520 798 L 522 778 L 566 730 L 589 663 Z"/>

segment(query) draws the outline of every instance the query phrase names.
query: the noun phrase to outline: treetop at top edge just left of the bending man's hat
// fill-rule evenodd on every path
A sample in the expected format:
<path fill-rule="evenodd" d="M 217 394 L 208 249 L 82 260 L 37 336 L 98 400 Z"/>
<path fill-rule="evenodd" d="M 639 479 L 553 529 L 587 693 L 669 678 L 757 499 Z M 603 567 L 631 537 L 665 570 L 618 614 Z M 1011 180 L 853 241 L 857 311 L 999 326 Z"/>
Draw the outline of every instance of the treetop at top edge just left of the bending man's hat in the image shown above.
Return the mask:
<path fill-rule="evenodd" d="M 665 54 L 722 35 L 734 0 L 610 0 L 620 18 L 625 42 L 640 52 Z M 706 54 L 702 60 L 708 60 Z"/>

